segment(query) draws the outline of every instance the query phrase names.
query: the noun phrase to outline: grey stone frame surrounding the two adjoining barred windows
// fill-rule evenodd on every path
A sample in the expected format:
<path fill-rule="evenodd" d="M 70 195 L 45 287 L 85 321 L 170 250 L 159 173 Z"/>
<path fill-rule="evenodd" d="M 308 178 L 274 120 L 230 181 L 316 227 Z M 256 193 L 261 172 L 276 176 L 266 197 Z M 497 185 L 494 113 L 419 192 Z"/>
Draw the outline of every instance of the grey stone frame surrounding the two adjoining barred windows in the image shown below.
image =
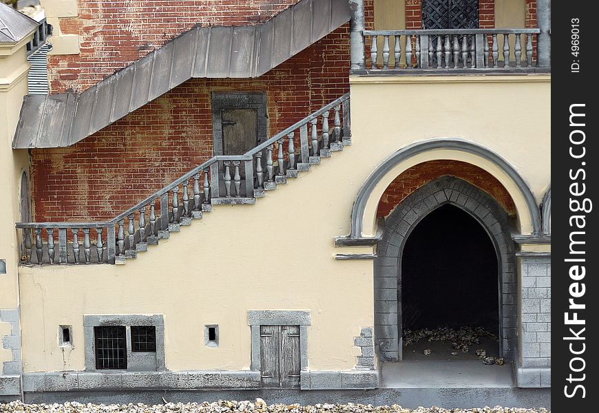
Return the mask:
<path fill-rule="evenodd" d="M 125 326 L 127 328 L 127 372 L 165 370 L 165 321 L 161 314 L 84 315 L 85 370 L 101 375 L 119 374 L 115 370 L 96 370 L 94 327 Z M 156 327 L 156 352 L 133 352 L 131 326 Z"/>

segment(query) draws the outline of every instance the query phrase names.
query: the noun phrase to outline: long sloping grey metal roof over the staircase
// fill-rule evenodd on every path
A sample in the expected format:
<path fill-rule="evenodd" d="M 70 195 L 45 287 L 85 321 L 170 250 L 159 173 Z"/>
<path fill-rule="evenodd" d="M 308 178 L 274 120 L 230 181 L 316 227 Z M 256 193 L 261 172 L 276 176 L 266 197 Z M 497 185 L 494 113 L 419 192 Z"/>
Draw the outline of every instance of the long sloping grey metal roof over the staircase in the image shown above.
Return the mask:
<path fill-rule="evenodd" d="M 74 145 L 190 78 L 262 76 L 349 19 L 347 0 L 300 0 L 260 25 L 193 28 L 81 94 L 25 96 L 12 148 Z"/>

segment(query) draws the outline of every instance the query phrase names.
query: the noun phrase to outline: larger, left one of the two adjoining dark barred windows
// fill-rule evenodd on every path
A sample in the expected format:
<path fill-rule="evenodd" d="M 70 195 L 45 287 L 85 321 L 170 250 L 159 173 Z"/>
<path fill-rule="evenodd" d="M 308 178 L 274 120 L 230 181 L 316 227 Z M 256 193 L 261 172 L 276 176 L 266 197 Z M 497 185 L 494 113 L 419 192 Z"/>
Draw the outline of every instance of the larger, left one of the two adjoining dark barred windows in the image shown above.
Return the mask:
<path fill-rule="evenodd" d="M 96 369 L 127 368 L 127 335 L 125 326 L 94 327 Z"/>

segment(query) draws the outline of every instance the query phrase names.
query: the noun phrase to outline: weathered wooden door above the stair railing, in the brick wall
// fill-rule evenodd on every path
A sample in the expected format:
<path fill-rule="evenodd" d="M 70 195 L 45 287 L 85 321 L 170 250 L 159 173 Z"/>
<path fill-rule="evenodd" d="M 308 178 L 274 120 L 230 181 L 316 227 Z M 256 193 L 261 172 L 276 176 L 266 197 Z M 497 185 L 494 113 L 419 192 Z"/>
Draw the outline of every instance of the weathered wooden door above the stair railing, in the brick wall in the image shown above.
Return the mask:
<path fill-rule="evenodd" d="M 222 109 L 222 154 L 243 155 L 258 145 L 256 109 Z"/>

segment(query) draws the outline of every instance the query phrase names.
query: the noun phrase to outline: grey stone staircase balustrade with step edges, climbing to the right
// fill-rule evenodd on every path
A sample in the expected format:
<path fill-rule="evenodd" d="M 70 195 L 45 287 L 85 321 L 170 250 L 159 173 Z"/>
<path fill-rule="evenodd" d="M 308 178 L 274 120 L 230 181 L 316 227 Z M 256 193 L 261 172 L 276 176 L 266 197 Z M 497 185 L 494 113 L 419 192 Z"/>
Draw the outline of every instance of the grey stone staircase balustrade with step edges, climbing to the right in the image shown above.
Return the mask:
<path fill-rule="evenodd" d="M 214 206 L 255 204 L 350 143 L 345 94 L 243 155 L 214 156 L 111 220 L 17 223 L 21 264 L 125 264 Z"/>

